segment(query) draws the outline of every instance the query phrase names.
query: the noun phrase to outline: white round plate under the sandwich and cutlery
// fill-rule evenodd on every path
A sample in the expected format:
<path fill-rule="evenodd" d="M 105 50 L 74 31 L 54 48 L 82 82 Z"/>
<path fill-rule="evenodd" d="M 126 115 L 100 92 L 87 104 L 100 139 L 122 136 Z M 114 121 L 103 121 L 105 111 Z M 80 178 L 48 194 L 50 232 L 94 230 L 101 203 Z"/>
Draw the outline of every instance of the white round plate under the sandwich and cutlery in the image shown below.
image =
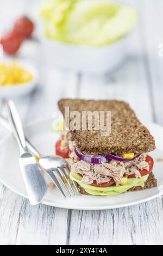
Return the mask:
<path fill-rule="evenodd" d="M 71 199 L 62 198 L 57 188 L 53 188 L 48 190 L 42 203 L 67 209 L 100 210 L 121 208 L 161 197 L 163 194 L 163 162 L 158 162 L 156 159 L 163 158 L 163 128 L 153 123 L 146 125 L 156 140 L 157 149 L 150 155 L 155 162 L 153 173 L 158 180 L 158 187 L 145 191 L 128 192 L 114 197 L 80 195 Z M 59 138 L 59 133 L 52 131 L 52 120 L 29 125 L 25 130 L 30 141 L 42 154 L 54 154 L 54 144 Z M 12 135 L 7 136 L 0 145 L 0 181 L 10 190 L 27 198 L 18 165 L 18 147 L 14 137 Z"/>

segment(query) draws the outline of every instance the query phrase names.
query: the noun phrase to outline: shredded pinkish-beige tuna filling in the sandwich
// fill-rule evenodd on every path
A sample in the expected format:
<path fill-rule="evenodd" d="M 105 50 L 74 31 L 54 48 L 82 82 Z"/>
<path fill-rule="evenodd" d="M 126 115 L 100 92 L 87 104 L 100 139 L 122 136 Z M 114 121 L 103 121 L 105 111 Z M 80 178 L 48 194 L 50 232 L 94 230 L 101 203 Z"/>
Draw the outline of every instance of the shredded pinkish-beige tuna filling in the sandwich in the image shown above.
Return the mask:
<path fill-rule="evenodd" d="M 121 162 L 111 160 L 106 163 L 93 164 L 79 159 L 74 152 L 75 142 L 71 141 L 71 133 L 64 132 L 61 135 L 64 140 L 65 149 L 70 149 L 70 165 L 71 172 L 82 175 L 81 182 L 84 184 L 97 184 L 109 182 L 112 179 L 115 185 L 119 186 L 123 183 L 123 178 L 134 174 L 136 178 L 141 178 L 140 170 L 146 169 L 149 172 L 149 164 L 146 162 L 147 154 L 141 154 L 134 160 L 129 162 Z"/>

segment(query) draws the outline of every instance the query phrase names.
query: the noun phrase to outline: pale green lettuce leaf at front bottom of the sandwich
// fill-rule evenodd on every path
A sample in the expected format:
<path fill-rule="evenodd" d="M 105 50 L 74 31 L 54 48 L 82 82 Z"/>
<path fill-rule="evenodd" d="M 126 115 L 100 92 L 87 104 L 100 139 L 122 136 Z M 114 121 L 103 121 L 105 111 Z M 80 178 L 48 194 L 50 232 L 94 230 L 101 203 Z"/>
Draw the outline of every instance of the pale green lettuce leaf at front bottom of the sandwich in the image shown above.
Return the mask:
<path fill-rule="evenodd" d="M 145 179 L 147 178 L 147 176 L 143 176 L 142 178 L 129 178 L 126 185 L 112 185 L 110 187 L 95 187 L 90 184 L 84 184 L 81 182 L 82 176 L 78 173 L 71 172 L 70 178 L 76 181 L 89 194 L 95 194 L 100 196 L 116 196 L 117 194 L 126 192 L 131 187 L 144 187 Z"/>

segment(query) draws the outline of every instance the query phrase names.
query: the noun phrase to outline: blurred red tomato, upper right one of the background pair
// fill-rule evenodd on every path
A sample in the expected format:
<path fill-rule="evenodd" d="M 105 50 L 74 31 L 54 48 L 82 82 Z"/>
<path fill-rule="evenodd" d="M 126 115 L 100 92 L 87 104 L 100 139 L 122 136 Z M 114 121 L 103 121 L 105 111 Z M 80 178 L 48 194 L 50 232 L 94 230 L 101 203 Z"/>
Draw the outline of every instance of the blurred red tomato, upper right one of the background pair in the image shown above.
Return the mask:
<path fill-rule="evenodd" d="M 29 38 L 34 30 L 34 24 L 27 17 L 21 17 L 15 21 L 14 31 L 22 35 L 22 37 Z"/>

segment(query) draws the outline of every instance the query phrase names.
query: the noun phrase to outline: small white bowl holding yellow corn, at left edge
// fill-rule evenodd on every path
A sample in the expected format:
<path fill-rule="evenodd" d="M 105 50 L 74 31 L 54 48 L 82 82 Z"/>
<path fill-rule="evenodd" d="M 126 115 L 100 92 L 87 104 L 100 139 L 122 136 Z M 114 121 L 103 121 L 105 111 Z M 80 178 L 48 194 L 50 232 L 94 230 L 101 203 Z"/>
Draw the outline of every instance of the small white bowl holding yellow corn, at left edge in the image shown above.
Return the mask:
<path fill-rule="evenodd" d="M 0 85 L 0 98 L 12 98 L 12 97 L 17 97 L 17 96 L 22 96 L 24 94 L 28 94 L 32 92 L 32 90 L 36 87 L 37 82 L 39 81 L 39 73 L 38 71 L 34 68 L 34 66 L 21 62 L 17 60 L 18 64 L 22 66 L 22 68 L 28 70 L 33 78 L 32 80 L 22 83 L 22 84 L 15 84 L 14 86 L 8 85 L 8 86 L 1 86 Z M 2 59 L 0 63 L 11 63 L 11 60 L 5 60 Z"/>

